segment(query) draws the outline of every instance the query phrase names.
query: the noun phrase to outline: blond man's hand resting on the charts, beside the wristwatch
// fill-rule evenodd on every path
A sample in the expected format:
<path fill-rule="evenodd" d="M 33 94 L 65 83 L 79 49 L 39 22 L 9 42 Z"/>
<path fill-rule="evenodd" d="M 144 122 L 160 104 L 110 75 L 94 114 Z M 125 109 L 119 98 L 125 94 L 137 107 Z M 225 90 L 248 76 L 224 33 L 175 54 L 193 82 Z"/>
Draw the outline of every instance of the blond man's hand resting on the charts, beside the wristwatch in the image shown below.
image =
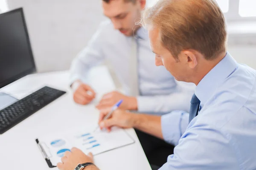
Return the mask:
<path fill-rule="evenodd" d="M 64 153 L 61 161 L 62 162 L 57 164 L 59 170 L 74 170 L 78 164 L 84 164 L 87 162 L 93 163 L 93 155 L 92 153 L 89 153 L 87 156 L 81 150 L 74 147 L 71 149 L 71 152 L 66 151 Z M 88 170 L 90 170 L 89 167 L 91 167 L 91 170 L 99 170 L 97 167 L 92 165 L 88 166 Z M 84 170 L 85 169 L 87 170 L 87 167 L 85 167 Z"/>

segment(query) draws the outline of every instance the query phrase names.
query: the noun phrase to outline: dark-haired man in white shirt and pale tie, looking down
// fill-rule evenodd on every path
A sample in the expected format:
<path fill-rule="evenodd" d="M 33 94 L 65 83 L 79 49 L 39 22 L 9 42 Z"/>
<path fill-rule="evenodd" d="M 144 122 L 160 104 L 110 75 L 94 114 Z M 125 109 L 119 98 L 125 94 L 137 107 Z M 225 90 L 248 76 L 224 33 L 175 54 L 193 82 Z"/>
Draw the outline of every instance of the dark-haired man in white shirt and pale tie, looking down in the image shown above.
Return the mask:
<path fill-rule="evenodd" d="M 108 110 L 123 99 L 120 108 L 140 113 L 163 115 L 175 110 L 189 111 L 195 86 L 178 82 L 164 67 L 156 67 L 147 31 L 135 26 L 145 3 L 145 0 L 102 0 L 103 12 L 110 20 L 99 26 L 71 66 L 70 84 L 75 102 L 86 105 L 94 99 L 96 94 L 86 77 L 93 66 L 107 59 L 124 91 L 105 94 L 96 106 L 99 110 Z M 181 121 L 187 124 L 186 119 Z M 136 132 L 149 162 L 164 164 L 175 143 Z"/>

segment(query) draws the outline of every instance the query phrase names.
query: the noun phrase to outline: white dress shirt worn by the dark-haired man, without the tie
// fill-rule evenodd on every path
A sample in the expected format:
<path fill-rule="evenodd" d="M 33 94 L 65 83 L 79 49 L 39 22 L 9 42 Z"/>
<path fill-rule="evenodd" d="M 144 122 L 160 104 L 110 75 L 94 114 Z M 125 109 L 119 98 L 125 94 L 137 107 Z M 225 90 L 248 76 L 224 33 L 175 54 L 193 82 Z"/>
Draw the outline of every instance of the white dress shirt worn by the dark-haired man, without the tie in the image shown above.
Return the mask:
<path fill-rule="evenodd" d="M 140 89 L 140 96 L 137 96 L 138 111 L 143 113 L 169 113 L 177 109 L 189 111 L 190 98 L 195 85 L 177 82 L 163 66 L 155 66 L 155 56 L 144 28 L 137 31 L 137 39 Z M 126 37 L 119 30 L 115 30 L 111 21 L 102 23 L 87 47 L 74 59 L 70 83 L 77 79 L 86 82 L 85 78 L 90 68 L 107 59 L 119 78 L 125 94 L 129 95 L 128 63 L 131 56 L 131 40 L 132 37 Z"/>

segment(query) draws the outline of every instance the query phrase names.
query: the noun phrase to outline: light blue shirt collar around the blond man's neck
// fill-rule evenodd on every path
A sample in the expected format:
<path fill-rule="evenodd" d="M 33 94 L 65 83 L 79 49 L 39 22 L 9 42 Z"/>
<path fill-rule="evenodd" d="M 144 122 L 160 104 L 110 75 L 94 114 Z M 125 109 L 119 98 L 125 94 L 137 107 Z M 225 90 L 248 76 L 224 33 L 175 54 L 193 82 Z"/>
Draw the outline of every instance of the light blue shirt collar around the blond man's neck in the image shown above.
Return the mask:
<path fill-rule="evenodd" d="M 205 104 L 212 96 L 215 89 L 232 74 L 236 69 L 237 62 L 227 52 L 226 56 L 198 83 L 195 89 L 195 95 Z"/>

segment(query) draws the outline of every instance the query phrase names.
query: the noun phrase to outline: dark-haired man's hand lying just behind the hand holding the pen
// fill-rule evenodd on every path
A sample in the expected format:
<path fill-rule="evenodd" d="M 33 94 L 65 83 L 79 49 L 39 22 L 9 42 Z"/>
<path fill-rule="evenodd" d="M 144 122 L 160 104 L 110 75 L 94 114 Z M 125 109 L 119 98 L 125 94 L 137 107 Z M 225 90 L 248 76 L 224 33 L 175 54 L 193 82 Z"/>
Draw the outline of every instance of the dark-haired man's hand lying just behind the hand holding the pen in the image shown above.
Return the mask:
<path fill-rule="evenodd" d="M 123 100 L 119 106 L 120 109 L 124 110 L 137 110 L 137 99 L 132 96 L 125 96 L 117 91 L 105 94 L 99 104 L 96 106 L 97 109 L 103 110 L 113 107 L 119 100 Z"/>

